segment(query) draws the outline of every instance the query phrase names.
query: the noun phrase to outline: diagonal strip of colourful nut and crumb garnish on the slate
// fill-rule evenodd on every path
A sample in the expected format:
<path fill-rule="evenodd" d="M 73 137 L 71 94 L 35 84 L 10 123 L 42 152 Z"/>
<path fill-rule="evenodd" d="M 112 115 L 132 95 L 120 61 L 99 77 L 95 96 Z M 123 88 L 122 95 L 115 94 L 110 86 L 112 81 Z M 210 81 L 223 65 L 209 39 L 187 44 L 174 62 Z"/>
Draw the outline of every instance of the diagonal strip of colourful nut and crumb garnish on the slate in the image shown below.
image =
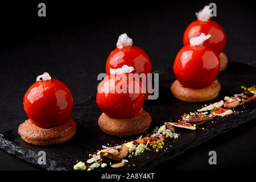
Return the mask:
<path fill-rule="evenodd" d="M 75 170 L 90 171 L 96 168 L 119 168 L 125 166 L 126 163 L 129 167 L 135 166 L 135 164 L 129 164 L 129 158 L 141 155 L 147 150 L 159 152 L 159 150 L 167 150 L 164 144 L 170 139 L 179 138 L 179 134 L 175 133 L 175 127 L 183 129 L 196 130 L 199 129 L 199 125 L 205 122 L 212 121 L 214 117 L 225 117 L 225 115 L 233 114 L 234 112 L 230 108 L 237 107 L 252 102 L 256 99 L 256 85 L 246 88 L 241 86 L 244 90 L 241 94 L 234 94 L 231 97 L 225 96 L 224 101 L 216 102 L 214 104 L 205 105 L 203 108 L 184 114 L 182 120 L 177 122 L 165 122 L 160 127 L 155 127 L 151 134 L 146 134 L 144 137 L 141 135 L 136 140 L 123 143 L 122 145 L 114 147 L 102 146 L 102 150 L 97 150 L 93 154 L 89 154 L 90 159 L 84 162 L 78 162 L 73 167 Z M 230 105 L 232 103 L 232 105 Z M 204 127 L 201 127 L 204 130 Z M 171 147 L 171 146 L 170 146 Z M 165 149 L 163 149 L 165 148 Z M 111 162 L 107 163 L 106 161 Z"/>

